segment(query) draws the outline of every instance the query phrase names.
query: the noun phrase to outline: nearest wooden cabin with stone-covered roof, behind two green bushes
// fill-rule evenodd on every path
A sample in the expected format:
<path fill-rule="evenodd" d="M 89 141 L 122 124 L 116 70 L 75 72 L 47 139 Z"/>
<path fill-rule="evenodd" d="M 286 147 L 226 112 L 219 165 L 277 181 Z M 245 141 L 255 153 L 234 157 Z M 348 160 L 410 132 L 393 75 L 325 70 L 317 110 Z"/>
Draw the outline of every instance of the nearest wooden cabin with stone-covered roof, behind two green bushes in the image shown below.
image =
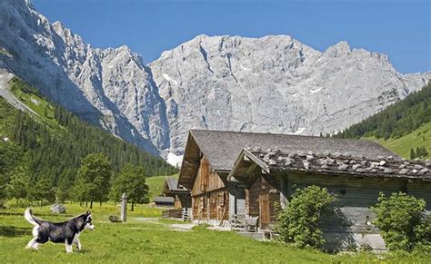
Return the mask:
<path fill-rule="evenodd" d="M 298 188 L 326 187 L 336 194 L 336 215 L 322 220 L 327 249 L 371 247 L 385 250 L 372 224 L 380 191 L 404 191 L 426 200 L 431 210 L 431 161 L 403 161 L 394 156 L 366 158 L 350 153 L 243 150 L 228 176 L 246 189 L 246 214 L 271 229 L 276 205 L 285 208 Z"/>

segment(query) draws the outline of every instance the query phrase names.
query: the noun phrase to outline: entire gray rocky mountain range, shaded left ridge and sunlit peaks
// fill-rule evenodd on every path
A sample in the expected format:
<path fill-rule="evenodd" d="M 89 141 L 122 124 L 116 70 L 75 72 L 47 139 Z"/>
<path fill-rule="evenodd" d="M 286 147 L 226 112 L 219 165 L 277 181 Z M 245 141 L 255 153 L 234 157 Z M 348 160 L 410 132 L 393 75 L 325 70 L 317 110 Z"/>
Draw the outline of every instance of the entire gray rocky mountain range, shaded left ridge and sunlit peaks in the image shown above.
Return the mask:
<path fill-rule="evenodd" d="M 182 155 L 192 128 L 339 132 L 431 78 L 398 73 L 385 54 L 346 42 L 320 52 L 288 35 L 198 35 L 144 64 L 126 46 L 85 43 L 28 0 L 0 1 L 0 68 L 0 79 L 13 73 L 86 121 L 169 159 Z"/>

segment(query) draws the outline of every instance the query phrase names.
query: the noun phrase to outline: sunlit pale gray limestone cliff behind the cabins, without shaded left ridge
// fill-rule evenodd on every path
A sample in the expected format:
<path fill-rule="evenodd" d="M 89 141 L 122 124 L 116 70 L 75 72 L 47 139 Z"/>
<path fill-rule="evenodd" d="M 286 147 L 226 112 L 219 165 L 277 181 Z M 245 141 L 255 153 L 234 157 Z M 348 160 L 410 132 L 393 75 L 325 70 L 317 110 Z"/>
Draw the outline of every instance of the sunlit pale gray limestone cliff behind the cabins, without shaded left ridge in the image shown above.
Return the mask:
<path fill-rule="evenodd" d="M 346 42 L 324 53 L 286 35 L 197 36 L 150 64 L 174 152 L 190 128 L 314 134 L 340 131 L 420 89 L 384 54 Z"/>

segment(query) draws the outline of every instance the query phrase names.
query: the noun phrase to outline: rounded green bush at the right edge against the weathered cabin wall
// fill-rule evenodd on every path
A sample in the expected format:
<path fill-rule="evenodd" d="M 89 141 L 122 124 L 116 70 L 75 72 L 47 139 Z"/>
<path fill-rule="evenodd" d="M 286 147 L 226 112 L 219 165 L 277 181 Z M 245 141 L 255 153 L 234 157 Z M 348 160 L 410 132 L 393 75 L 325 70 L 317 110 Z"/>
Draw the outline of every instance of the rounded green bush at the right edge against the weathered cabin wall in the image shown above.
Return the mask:
<path fill-rule="evenodd" d="M 390 250 L 420 251 L 431 249 L 431 219 L 426 214 L 426 202 L 404 192 L 395 192 L 387 198 L 380 192 L 372 210 L 374 223 L 381 231 Z"/>

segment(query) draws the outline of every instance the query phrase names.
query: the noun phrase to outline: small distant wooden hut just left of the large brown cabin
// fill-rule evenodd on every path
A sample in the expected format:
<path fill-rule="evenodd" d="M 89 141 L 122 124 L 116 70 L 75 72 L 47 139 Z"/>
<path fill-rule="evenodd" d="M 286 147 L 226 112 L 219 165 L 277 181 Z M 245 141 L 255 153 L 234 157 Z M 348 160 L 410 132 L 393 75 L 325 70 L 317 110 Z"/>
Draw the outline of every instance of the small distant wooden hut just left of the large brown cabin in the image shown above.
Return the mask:
<path fill-rule="evenodd" d="M 175 199 L 175 209 L 189 209 L 192 207 L 190 190 L 187 190 L 182 185 L 178 185 L 178 180 L 174 178 L 166 177 L 163 194 L 165 197 L 172 197 Z"/>

